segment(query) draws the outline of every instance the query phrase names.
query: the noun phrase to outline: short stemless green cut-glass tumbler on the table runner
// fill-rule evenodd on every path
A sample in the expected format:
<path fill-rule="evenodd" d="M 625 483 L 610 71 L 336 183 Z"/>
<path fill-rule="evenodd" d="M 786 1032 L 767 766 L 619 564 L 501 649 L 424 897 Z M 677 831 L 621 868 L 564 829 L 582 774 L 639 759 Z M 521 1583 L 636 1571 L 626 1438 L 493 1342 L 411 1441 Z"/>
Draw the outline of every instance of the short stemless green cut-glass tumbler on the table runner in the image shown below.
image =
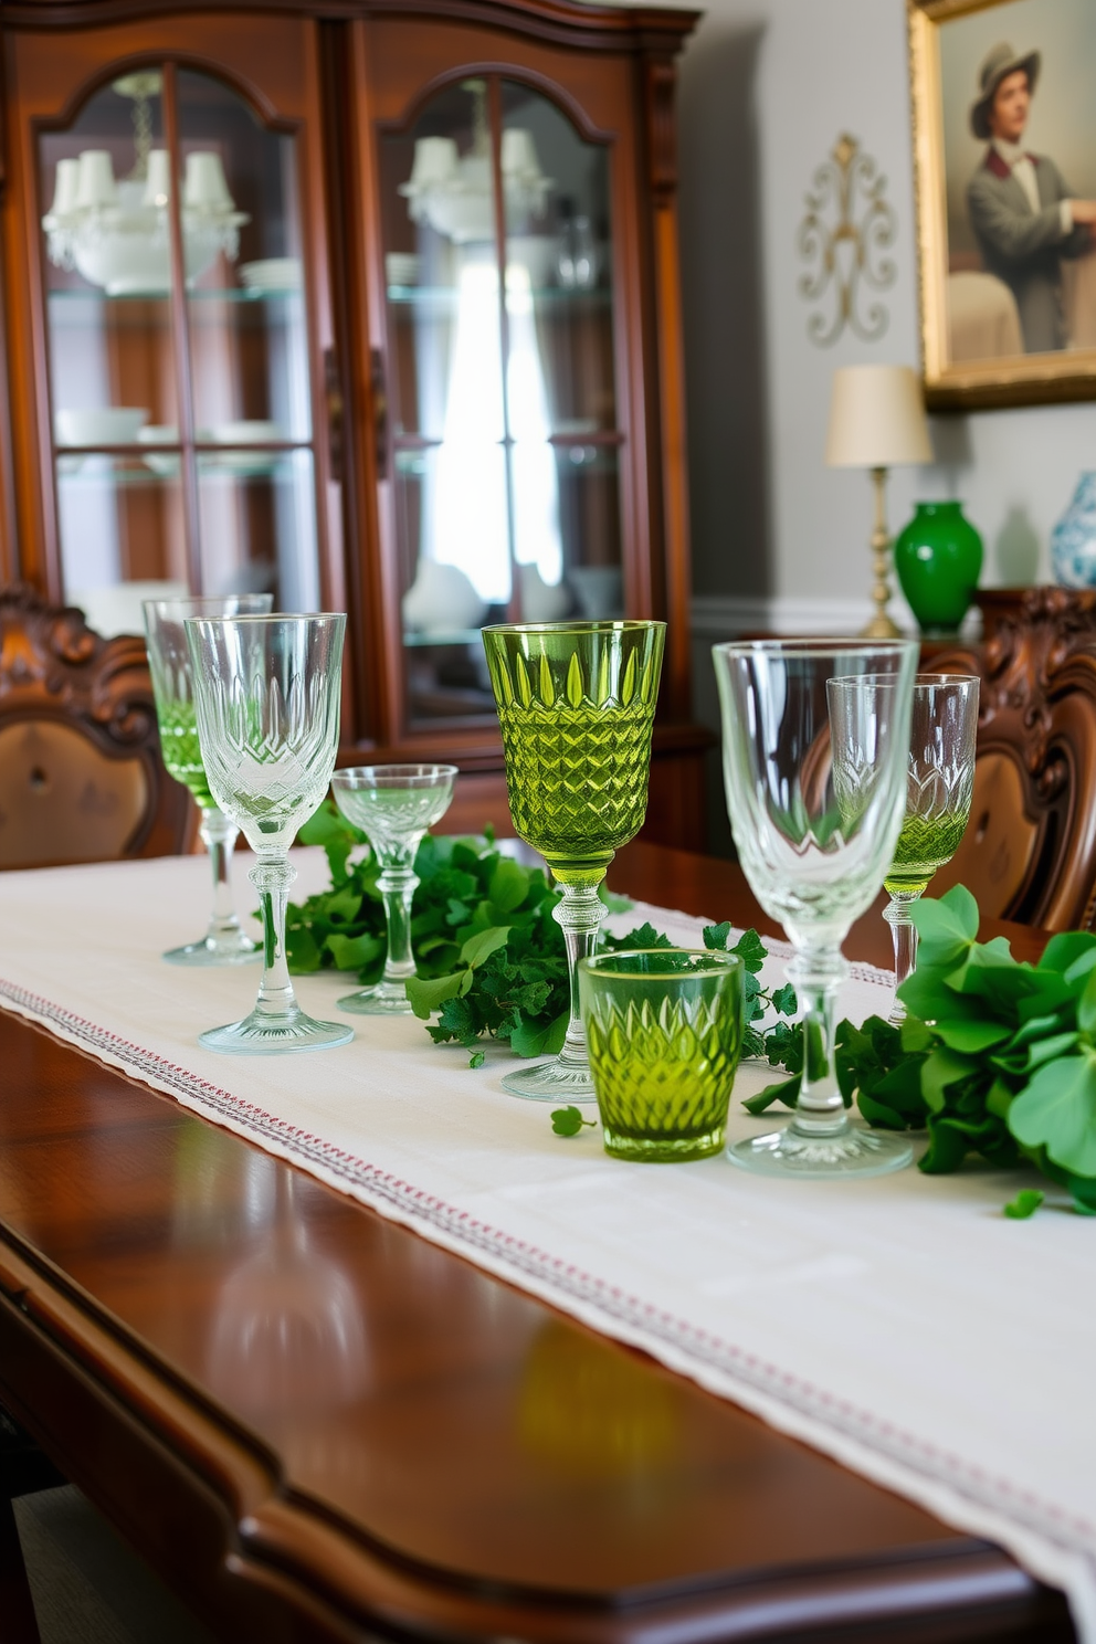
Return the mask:
<path fill-rule="evenodd" d="M 605 1151 L 669 1164 L 723 1151 L 743 1044 L 735 954 L 641 949 L 578 965 Z"/>

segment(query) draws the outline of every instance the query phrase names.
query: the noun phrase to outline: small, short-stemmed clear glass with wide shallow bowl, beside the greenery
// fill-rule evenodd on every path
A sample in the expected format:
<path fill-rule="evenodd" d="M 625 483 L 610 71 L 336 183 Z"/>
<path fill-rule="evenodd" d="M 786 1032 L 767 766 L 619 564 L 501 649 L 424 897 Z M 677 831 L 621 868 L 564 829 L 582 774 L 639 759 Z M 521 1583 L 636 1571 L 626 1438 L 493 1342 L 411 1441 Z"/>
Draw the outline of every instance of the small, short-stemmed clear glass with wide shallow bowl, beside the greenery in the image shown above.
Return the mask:
<path fill-rule="evenodd" d="M 419 883 L 414 855 L 422 835 L 440 822 L 454 797 L 455 764 L 357 764 L 335 771 L 332 792 L 347 822 L 368 838 L 381 875 L 388 957 L 373 988 L 347 993 L 340 1011 L 361 1016 L 409 1016 L 404 981 L 414 977 L 411 957 L 411 898 Z"/>

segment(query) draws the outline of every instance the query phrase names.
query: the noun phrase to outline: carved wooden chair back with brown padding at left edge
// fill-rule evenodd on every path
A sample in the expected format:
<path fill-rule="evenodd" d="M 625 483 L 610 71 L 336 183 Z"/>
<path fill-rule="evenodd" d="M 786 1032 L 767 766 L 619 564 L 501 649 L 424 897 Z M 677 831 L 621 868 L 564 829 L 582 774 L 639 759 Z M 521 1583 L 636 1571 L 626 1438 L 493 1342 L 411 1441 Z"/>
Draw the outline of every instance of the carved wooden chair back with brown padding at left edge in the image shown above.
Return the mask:
<path fill-rule="evenodd" d="M 0 590 L 0 868 L 159 857 L 189 825 L 159 756 L 145 641 L 104 640 L 33 589 Z"/>

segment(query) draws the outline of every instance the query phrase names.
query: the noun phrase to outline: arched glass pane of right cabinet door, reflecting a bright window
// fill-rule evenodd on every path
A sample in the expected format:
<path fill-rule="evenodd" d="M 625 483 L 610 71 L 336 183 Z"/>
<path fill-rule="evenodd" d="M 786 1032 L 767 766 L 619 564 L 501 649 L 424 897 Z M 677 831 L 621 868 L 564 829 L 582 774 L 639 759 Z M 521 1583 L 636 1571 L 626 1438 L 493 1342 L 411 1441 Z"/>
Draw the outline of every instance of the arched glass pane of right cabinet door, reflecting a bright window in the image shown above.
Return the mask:
<path fill-rule="evenodd" d="M 422 727 L 491 712 L 481 623 L 623 615 L 610 153 L 542 92 L 483 76 L 383 136 L 381 187 Z"/>

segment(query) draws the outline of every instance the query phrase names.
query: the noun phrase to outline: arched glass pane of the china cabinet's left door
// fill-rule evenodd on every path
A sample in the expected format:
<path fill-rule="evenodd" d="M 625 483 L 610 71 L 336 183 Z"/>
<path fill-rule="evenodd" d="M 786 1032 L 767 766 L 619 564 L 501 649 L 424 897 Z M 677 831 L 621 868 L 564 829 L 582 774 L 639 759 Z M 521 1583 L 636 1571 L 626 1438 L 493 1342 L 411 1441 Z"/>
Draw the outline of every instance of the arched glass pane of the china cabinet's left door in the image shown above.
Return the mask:
<path fill-rule="evenodd" d="M 171 62 L 38 138 L 64 597 L 100 631 L 154 593 L 319 603 L 296 148 Z"/>

